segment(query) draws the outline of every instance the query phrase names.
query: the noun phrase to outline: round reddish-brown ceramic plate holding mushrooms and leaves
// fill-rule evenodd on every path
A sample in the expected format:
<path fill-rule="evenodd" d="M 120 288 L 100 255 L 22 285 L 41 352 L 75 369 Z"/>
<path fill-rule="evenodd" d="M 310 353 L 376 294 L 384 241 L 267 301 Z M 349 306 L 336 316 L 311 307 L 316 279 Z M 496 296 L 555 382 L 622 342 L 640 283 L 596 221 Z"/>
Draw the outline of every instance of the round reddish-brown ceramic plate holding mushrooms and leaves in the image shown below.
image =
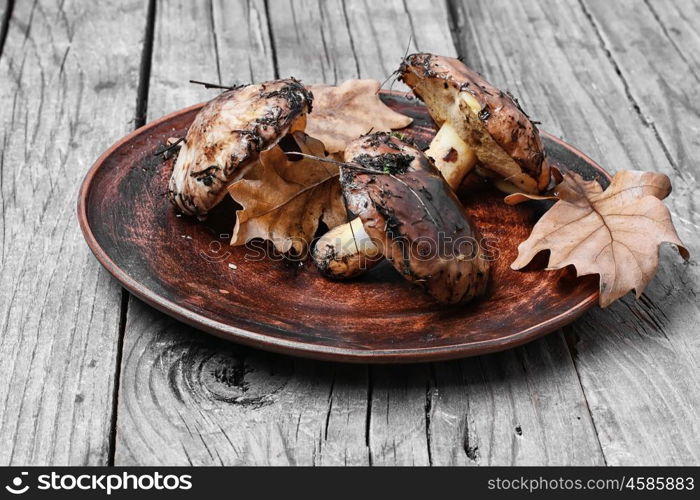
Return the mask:
<path fill-rule="evenodd" d="M 414 118 L 407 135 L 420 144 L 430 141 L 435 127 L 419 101 L 398 93 L 382 97 Z M 233 202 L 217 207 L 204 223 L 176 216 L 165 197 L 172 163 L 153 154 L 168 137 L 184 135 L 200 107 L 149 123 L 109 148 L 88 172 L 78 201 L 80 226 L 100 263 L 166 314 L 261 349 L 403 363 L 515 347 L 573 321 L 598 299 L 595 277 L 543 271 L 542 262 L 526 272 L 510 269 L 518 243 L 546 205 L 506 206 L 502 194 L 476 176 L 460 198 L 482 233 L 498 242 L 498 258 L 487 296 L 468 305 L 433 302 L 386 263 L 337 283 L 310 263 L 290 265 L 256 258 L 256 249 L 231 248 Z M 590 158 L 543 136 L 554 165 L 607 186 L 609 175 Z"/>

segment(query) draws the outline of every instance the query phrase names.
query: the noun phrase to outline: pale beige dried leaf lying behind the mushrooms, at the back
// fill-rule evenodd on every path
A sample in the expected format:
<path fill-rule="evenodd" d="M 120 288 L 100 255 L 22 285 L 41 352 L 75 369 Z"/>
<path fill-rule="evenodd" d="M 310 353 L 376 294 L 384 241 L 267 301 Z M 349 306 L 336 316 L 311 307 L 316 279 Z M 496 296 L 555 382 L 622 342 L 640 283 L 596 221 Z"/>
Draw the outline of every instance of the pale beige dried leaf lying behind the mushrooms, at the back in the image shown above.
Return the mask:
<path fill-rule="evenodd" d="M 390 132 L 410 125 L 411 118 L 381 101 L 379 87 L 376 80 L 348 80 L 337 87 L 307 86 L 314 104 L 307 115 L 306 133 L 323 142 L 329 153 L 337 153 L 370 131 Z"/>

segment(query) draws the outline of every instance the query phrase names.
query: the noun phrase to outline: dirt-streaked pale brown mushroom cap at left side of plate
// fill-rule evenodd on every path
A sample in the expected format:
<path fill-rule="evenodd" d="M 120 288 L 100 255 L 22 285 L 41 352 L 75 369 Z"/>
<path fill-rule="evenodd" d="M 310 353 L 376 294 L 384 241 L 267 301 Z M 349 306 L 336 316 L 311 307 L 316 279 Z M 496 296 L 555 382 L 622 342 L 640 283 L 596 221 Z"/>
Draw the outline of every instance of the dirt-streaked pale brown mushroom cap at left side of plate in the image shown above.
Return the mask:
<path fill-rule="evenodd" d="M 261 151 L 303 130 L 312 100 L 293 78 L 239 87 L 212 99 L 187 132 L 170 178 L 170 200 L 186 214 L 205 217 Z"/>

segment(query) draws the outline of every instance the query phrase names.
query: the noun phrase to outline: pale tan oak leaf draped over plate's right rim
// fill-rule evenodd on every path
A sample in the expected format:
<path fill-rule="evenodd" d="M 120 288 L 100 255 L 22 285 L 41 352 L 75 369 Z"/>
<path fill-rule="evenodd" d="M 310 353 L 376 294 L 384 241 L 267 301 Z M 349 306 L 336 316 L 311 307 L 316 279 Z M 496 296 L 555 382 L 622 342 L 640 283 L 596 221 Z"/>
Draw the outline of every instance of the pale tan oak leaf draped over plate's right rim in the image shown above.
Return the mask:
<path fill-rule="evenodd" d="M 550 250 L 547 269 L 573 265 L 578 276 L 600 275 L 601 307 L 630 290 L 639 298 L 656 272 L 661 243 L 673 243 L 689 258 L 661 202 L 670 192 L 668 177 L 656 172 L 618 172 L 605 191 L 596 181 L 566 172 L 554 189 L 559 201 L 518 246 L 511 267 L 522 269 L 538 252 Z M 511 195 L 506 202 L 526 199 L 535 197 Z"/>

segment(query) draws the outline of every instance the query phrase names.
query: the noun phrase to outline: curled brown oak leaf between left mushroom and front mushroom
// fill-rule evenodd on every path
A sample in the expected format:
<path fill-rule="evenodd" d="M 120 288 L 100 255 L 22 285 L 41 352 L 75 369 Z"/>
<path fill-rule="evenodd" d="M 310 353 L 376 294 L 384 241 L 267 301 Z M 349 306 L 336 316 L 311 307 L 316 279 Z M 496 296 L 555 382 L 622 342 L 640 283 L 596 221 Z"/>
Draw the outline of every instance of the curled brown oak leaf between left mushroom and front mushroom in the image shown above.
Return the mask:
<path fill-rule="evenodd" d="M 324 156 L 323 143 L 303 132 L 293 135 L 302 153 Z M 243 207 L 236 214 L 232 245 L 263 238 L 282 253 L 305 255 L 319 221 L 329 228 L 347 221 L 338 167 L 298 158 L 275 146 L 229 186 L 229 194 Z"/>

